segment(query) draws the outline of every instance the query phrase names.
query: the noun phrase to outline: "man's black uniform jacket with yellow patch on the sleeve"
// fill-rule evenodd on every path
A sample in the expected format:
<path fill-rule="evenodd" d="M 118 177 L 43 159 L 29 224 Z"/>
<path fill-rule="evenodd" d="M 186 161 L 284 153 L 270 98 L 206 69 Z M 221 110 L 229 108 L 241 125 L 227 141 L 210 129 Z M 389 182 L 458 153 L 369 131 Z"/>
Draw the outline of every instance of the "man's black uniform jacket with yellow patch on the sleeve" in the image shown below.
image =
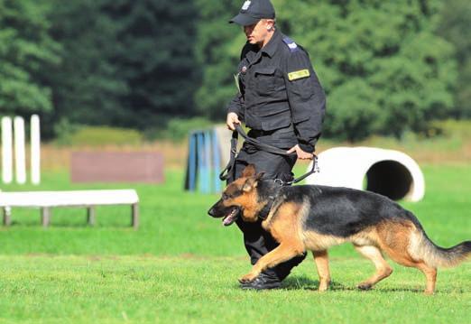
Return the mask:
<path fill-rule="evenodd" d="M 263 49 L 247 42 L 236 82 L 239 93 L 230 102 L 229 113 L 236 113 L 245 125 L 262 133 L 290 127 L 294 144 L 314 152 L 326 97 L 309 54 L 300 45 L 279 31 Z"/>

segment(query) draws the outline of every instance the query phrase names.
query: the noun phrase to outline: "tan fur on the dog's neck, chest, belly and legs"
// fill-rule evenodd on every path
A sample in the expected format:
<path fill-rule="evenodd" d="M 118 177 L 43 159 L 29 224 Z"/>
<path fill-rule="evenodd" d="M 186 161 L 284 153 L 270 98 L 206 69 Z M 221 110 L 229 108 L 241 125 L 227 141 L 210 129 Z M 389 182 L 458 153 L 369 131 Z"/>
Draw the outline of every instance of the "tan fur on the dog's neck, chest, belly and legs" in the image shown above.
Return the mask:
<path fill-rule="evenodd" d="M 302 230 L 302 223 L 309 216 L 309 204 L 292 202 L 284 203 L 276 208 L 265 221 L 263 227 L 270 230 L 273 238 L 280 245 L 272 252 L 264 255 L 253 270 L 241 278 L 242 282 L 251 281 L 266 268 L 290 260 L 306 250 L 313 251 L 319 273 L 319 292 L 328 289 L 330 273 L 328 270 L 328 248 L 346 242 L 356 246 L 356 250 L 373 262 L 376 272 L 364 282 L 358 283 L 362 290 L 371 289 L 374 284 L 387 278 L 392 268 L 384 260 L 383 250 L 398 264 L 415 267 L 424 273 L 427 285 L 425 293 L 432 294 L 435 290 L 437 269 L 421 260 L 420 249 L 424 249 L 423 242 L 417 240 L 415 226 L 411 222 L 384 222 L 369 227 L 354 236 L 338 237 L 320 234 L 315 231 Z M 415 251 L 415 253 L 411 253 Z"/>

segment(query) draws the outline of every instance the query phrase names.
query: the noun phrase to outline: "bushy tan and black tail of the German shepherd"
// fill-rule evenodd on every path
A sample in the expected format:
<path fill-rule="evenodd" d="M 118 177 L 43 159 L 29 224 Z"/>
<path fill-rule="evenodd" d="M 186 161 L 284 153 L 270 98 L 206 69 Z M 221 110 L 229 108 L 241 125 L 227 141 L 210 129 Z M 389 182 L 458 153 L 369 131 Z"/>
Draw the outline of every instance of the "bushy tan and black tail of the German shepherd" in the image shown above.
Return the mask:
<path fill-rule="evenodd" d="M 411 232 L 409 253 L 415 260 L 423 260 L 431 267 L 452 267 L 471 257 L 471 241 L 444 248 L 433 243 L 420 224 Z"/>

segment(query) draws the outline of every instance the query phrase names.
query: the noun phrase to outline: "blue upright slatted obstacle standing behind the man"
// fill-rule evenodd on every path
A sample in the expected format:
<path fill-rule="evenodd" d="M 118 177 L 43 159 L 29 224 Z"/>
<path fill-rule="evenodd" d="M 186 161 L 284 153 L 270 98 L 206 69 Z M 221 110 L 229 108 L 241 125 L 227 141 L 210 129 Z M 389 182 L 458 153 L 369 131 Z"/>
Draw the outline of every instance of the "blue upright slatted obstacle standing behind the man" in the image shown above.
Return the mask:
<path fill-rule="evenodd" d="M 224 183 L 219 180 L 223 162 L 221 151 L 225 147 L 227 150 L 229 148 L 219 141 L 220 133 L 217 128 L 211 128 L 189 134 L 185 190 L 201 193 L 217 193 L 222 190 Z"/>

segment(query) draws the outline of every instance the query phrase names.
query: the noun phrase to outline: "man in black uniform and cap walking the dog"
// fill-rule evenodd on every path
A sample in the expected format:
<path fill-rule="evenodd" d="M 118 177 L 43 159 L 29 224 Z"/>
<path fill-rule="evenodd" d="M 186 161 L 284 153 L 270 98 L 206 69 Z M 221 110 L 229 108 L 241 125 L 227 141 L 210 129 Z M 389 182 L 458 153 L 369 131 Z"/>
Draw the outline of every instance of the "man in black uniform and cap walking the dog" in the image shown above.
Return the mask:
<path fill-rule="evenodd" d="M 238 93 L 227 109 L 226 124 L 245 122 L 248 135 L 261 143 L 285 149 L 291 155 L 277 155 L 245 143 L 235 160 L 234 179 L 247 164 L 253 163 L 266 179 L 292 180 L 292 167 L 299 159 L 312 159 L 324 118 L 326 98 L 312 69 L 309 54 L 280 32 L 270 0 L 245 1 L 239 14 L 229 23 L 244 27 L 247 42 L 235 75 Z M 244 233 L 245 248 L 251 263 L 278 245 L 263 230 L 261 221 L 237 220 Z M 243 289 L 273 289 L 281 286 L 291 268 L 305 255 L 261 273 Z"/>

